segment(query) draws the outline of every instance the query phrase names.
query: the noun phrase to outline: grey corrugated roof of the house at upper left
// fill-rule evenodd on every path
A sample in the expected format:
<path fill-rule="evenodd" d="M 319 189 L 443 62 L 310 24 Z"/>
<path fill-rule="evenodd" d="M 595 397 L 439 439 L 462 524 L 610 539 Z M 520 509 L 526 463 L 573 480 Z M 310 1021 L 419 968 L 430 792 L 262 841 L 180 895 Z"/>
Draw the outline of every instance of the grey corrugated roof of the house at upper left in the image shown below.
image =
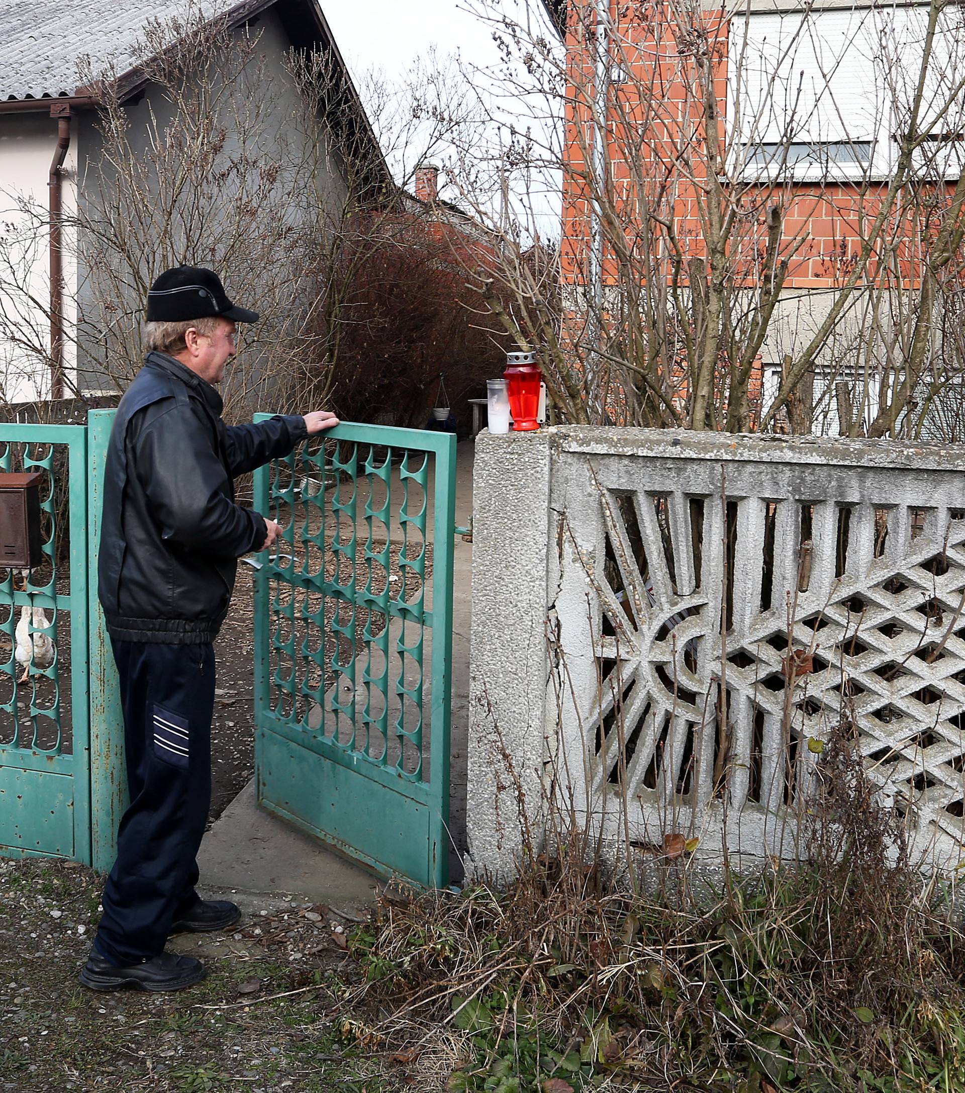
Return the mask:
<path fill-rule="evenodd" d="M 230 11 L 238 0 L 205 0 L 205 13 Z M 118 74 L 137 61 L 150 20 L 188 10 L 187 0 L 0 0 L 0 99 L 72 95 L 78 61 Z"/>

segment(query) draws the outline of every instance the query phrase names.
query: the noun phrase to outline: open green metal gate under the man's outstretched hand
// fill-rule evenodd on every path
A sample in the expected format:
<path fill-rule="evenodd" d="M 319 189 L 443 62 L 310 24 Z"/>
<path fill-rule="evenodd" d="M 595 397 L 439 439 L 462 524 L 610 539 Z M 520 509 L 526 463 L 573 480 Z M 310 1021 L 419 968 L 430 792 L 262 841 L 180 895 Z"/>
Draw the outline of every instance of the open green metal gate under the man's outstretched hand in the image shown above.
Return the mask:
<path fill-rule="evenodd" d="M 284 528 L 256 576 L 258 802 L 425 885 L 448 869 L 455 479 L 454 436 L 378 425 L 255 474 Z"/>

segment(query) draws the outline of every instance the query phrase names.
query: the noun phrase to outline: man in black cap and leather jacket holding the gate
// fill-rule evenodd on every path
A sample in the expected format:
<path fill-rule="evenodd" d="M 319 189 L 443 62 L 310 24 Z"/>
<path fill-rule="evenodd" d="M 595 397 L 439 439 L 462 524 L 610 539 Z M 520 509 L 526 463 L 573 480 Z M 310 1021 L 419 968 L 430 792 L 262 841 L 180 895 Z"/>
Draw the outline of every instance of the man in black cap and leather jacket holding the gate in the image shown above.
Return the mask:
<path fill-rule="evenodd" d="M 167 937 L 236 922 L 202 901 L 195 860 L 211 798 L 212 643 L 237 559 L 279 526 L 235 504 L 233 479 L 338 424 L 326 411 L 225 425 L 213 384 L 234 355 L 236 307 L 211 270 L 167 270 L 148 294 L 151 350 L 120 400 L 104 477 L 98 588 L 120 677 L 131 803 L 81 982 L 96 990 L 179 990 L 200 961 Z"/>

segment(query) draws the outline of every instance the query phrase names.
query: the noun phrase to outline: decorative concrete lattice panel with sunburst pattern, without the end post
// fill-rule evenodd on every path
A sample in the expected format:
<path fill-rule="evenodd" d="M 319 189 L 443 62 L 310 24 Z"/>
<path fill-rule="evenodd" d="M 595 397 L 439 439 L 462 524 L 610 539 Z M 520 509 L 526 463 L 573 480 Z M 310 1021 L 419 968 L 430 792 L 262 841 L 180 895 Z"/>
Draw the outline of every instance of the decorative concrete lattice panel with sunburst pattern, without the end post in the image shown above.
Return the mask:
<path fill-rule="evenodd" d="M 785 853 L 845 709 L 913 847 L 956 862 L 961 457 L 626 433 L 569 431 L 553 466 L 557 690 L 590 807 L 625 792 L 642 842 Z"/>

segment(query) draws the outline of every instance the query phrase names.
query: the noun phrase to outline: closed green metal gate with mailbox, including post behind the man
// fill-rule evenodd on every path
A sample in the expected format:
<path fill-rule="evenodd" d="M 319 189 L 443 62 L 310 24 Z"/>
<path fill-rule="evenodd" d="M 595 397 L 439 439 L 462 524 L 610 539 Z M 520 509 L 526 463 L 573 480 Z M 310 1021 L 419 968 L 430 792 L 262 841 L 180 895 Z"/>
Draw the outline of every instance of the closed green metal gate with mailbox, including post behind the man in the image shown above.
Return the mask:
<path fill-rule="evenodd" d="M 28 574 L 0 556 L 0 856 L 114 858 L 123 749 L 93 565 L 113 419 L 0 423 L 0 470 L 42 475 L 43 533 Z"/>

